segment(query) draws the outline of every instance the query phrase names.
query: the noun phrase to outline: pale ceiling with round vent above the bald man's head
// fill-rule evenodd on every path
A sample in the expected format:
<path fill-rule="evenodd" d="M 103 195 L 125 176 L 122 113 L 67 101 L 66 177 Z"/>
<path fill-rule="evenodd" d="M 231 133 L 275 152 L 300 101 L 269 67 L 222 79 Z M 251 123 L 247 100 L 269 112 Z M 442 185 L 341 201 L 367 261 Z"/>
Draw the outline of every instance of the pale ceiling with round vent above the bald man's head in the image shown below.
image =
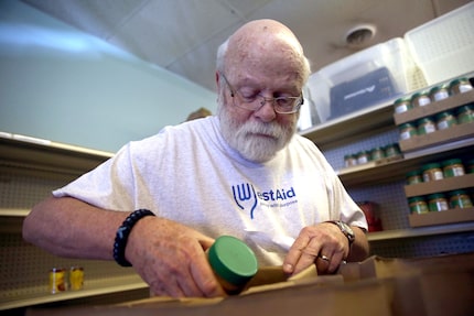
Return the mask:
<path fill-rule="evenodd" d="M 215 52 L 247 21 L 276 19 L 303 44 L 312 69 L 355 52 L 345 43 L 359 25 L 374 45 L 403 34 L 470 0 L 22 0 L 209 90 Z"/>

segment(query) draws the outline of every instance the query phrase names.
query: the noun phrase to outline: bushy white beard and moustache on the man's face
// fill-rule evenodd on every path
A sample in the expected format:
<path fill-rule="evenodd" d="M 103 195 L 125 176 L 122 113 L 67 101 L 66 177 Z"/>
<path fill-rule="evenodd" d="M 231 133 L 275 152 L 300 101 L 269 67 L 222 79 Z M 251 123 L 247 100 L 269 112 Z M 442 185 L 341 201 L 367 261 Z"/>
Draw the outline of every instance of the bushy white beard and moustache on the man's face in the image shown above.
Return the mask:
<path fill-rule="evenodd" d="M 220 131 L 227 143 L 245 159 L 267 162 L 283 149 L 297 130 L 297 118 L 288 127 L 276 121 L 262 123 L 246 121 L 243 124 L 231 118 L 225 105 L 219 105 Z"/>

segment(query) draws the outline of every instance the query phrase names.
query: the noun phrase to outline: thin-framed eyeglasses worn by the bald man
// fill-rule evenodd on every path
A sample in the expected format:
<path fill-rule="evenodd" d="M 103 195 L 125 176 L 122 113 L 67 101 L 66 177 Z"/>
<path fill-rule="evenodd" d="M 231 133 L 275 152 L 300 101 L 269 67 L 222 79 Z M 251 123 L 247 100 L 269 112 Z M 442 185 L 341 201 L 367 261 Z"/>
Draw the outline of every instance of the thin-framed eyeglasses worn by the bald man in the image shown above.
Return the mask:
<path fill-rule="evenodd" d="M 233 86 L 227 80 L 224 74 L 220 74 L 227 86 L 230 90 L 230 97 L 233 97 L 234 106 L 249 110 L 249 111 L 258 111 L 261 107 L 267 102 L 271 102 L 273 106 L 273 110 L 280 115 L 291 115 L 298 112 L 301 106 L 304 102 L 303 94 L 299 97 L 278 97 L 278 98 L 269 98 L 261 95 L 256 95 L 251 97 L 245 97 L 239 91 L 233 88 Z M 236 105 L 235 99 L 238 99 L 238 103 Z"/>

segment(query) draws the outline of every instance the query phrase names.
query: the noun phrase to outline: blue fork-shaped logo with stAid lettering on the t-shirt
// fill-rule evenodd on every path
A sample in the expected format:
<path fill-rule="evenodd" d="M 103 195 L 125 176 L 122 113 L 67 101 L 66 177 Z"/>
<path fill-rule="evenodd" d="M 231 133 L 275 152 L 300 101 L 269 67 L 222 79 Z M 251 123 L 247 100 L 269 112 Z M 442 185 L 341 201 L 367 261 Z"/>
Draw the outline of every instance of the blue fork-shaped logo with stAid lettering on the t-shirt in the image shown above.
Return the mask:
<path fill-rule="evenodd" d="M 268 207 L 282 207 L 297 203 L 294 188 L 277 188 L 265 192 L 257 192 L 254 185 L 243 183 L 233 185 L 234 200 L 243 210 L 249 210 L 250 218 L 254 219 L 254 210 L 258 203 L 265 203 Z M 286 201 L 281 204 L 281 201 Z"/>

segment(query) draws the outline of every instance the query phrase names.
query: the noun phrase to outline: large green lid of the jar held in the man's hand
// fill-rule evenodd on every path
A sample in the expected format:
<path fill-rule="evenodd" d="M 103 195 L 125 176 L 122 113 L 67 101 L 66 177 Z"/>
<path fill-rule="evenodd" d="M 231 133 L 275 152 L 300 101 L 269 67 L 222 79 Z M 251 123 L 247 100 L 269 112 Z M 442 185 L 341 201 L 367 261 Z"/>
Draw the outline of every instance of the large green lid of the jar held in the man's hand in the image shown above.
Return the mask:
<path fill-rule="evenodd" d="M 254 251 L 241 240 L 220 236 L 208 250 L 214 272 L 234 285 L 244 285 L 258 270 Z"/>

